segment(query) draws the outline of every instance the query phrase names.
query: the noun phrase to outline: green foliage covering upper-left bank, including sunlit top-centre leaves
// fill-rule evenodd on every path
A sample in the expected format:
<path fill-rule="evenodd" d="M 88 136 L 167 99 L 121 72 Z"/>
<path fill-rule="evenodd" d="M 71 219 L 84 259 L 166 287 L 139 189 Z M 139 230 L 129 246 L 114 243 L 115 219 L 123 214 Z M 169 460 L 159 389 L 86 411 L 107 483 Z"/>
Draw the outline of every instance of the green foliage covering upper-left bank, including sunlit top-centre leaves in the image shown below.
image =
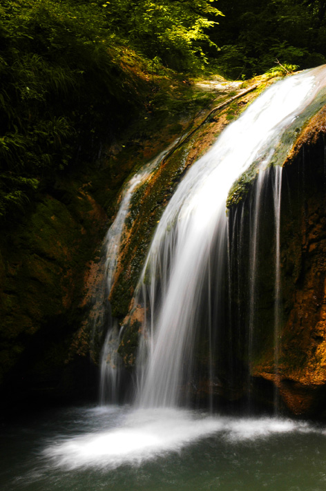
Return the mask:
<path fill-rule="evenodd" d="M 3 0 L 0 220 L 97 158 L 147 110 L 164 66 L 198 70 L 217 15 L 213 0 Z"/>

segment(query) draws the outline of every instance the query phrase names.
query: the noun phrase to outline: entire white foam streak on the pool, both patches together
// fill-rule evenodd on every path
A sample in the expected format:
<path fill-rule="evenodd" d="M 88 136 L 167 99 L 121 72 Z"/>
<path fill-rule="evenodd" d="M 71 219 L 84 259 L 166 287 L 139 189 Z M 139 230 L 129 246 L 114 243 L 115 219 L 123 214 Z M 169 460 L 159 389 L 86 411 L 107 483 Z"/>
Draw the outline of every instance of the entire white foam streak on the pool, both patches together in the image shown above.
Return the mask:
<path fill-rule="evenodd" d="M 314 432 L 308 423 L 280 418 L 230 418 L 175 409 L 136 410 L 119 427 L 51 443 L 43 455 L 52 465 L 117 468 L 140 465 L 209 436 L 238 443 L 290 432 Z"/>

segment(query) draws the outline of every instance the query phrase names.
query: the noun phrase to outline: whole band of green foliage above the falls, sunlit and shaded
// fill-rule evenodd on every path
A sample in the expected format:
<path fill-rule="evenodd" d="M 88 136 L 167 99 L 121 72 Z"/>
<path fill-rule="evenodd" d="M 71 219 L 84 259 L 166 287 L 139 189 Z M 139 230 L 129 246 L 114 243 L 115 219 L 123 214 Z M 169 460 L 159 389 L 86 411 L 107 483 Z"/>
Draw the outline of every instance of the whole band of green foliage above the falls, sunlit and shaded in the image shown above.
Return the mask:
<path fill-rule="evenodd" d="M 321 0 L 3 0 L 0 220 L 95 160 L 207 61 L 231 77 L 276 59 L 325 62 L 325 11 Z"/>

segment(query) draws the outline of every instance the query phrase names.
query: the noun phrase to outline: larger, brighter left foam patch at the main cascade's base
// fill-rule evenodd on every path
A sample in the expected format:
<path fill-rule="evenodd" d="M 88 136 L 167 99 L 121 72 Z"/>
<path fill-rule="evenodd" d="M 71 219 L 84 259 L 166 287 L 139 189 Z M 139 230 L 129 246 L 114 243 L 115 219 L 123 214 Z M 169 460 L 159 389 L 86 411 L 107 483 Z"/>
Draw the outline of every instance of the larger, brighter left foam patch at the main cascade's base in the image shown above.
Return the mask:
<path fill-rule="evenodd" d="M 55 443 L 44 450 L 44 455 L 70 470 L 85 465 L 116 468 L 178 451 L 221 427 L 218 419 L 195 419 L 182 410 L 139 410 L 128 414 L 119 428 Z"/>

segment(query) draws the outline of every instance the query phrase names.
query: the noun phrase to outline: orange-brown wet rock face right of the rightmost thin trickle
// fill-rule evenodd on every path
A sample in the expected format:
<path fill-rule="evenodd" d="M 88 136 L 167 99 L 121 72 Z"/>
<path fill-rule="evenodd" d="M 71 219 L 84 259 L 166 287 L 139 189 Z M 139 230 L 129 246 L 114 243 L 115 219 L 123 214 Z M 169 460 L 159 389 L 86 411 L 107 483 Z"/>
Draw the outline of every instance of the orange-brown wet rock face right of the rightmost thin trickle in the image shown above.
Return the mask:
<path fill-rule="evenodd" d="M 251 374 L 277 387 L 280 405 L 298 415 L 325 416 L 326 398 L 326 169 L 325 110 L 301 135 L 283 166 L 280 224 L 282 321 L 278 363 L 271 332 L 269 278 L 261 277 L 255 323 L 260 354 L 250 360 Z M 263 229 L 267 241 L 271 232 Z M 262 251 L 262 257 L 267 251 Z M 268 256 L 267 256 L 268 257 Z M 262 271 L 265 262 L 261 263 Z M 267 269 L 266 269 L 267 271 Z M 260 322 L 269 336 L 263 339 Z M 268 340 L 269 339 L 269 340 Z M 255 386 L 255 384 L 253 384 Z M 257 387 L 259 384 L 257 385 Z M 259 389 L 256 388 L 259 397 Z M 269 397 L 272 401 L 272 397 Z"/>

